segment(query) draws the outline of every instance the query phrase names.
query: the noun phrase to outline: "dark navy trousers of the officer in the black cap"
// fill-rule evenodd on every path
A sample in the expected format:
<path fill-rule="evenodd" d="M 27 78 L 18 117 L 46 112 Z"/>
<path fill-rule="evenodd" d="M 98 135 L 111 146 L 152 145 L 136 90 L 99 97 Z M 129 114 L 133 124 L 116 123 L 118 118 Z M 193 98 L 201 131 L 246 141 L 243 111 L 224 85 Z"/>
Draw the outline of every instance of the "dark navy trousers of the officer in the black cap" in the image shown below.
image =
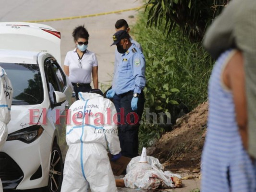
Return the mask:
<path fill-rule="evenodd" d="M 133 158 L 138 156 L 138 148 L 139 148 L 139 139 L 138 139 L 138 131 L 139 131 L 139 122 L 142 117 L 145 97 L 142 92 L 139 96 L 138 100 L 138 108 L 133 111 L 131 107 L 131 102 L 133 98 L 133 92 L 128 92 L 126 94 L 121 95 L 120 107 L 121 113 L 122 109 L 124 110 L 124 115 L 121 114 L 121 126 L 119 126 L 119 140 L 121 145 L 121 153 L 122 156 L 127 156 Z"/>

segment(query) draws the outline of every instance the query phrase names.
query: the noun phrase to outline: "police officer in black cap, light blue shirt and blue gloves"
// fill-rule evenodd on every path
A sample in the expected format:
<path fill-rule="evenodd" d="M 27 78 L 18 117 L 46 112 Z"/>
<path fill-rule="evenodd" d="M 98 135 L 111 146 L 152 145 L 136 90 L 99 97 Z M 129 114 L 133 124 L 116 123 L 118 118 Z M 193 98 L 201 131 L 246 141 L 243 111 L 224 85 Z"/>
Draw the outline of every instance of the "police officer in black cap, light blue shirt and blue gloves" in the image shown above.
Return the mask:
<path fill-rule="evenodd" d="M 106 96 L 112 98 L 117 94 L 121 97 L 119 140 L 122 155 L 133 158 L 138 156 L 138 128 L 145 103 L 143 88 L 146 84 L 146 62 L 143 53 L 131 43 L 126 31 L 117 31 L 113 40 L 112 45 L 116 45 L 118 52 L 122 53 L 122 62 L 117 69 L 116 86 Z"/>

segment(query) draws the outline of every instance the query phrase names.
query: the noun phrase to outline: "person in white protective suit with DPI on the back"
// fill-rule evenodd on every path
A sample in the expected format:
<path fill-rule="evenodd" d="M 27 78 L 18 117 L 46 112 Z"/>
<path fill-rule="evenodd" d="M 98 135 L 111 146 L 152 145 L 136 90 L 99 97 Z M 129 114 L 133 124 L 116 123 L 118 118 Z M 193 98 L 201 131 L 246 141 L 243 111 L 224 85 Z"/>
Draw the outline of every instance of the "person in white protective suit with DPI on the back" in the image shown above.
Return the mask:
<path fill-rule="evenodd" d="M 111 160 L 121 157 L 117 120 L 113 120 L 116 109 L 99 89 L 91 92 L 94 91 L 79 92 L 79 100 L 69 108 L 71 122 L 66 129 L 69 149 L 61 192 L 86 192 L 89 186 L 91 192 L 117 192 L 106 150 L 108 145 L 113 155 Z"/>

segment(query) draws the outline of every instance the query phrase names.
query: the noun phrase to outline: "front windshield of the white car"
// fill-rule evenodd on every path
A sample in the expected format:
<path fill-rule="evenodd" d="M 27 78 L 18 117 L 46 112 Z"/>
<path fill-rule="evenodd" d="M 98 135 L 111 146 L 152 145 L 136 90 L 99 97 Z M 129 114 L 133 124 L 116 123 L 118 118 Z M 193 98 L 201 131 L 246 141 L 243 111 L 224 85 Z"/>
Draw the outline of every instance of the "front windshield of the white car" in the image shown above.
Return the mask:
<path fill-rule="evenodd" d="M 36 105 L 43 102 L 43 85 L 37 64 L 1 63 L 13 87 L 12 105 Z"/>

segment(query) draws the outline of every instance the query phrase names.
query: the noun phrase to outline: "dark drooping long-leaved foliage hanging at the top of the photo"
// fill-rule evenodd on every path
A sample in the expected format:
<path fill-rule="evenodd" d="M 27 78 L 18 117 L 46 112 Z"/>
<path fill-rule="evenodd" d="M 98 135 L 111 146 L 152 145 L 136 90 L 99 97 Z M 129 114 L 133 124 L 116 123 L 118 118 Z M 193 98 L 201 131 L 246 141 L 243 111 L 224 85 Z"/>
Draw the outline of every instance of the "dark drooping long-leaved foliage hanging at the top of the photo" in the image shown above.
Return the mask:
<path fill-rule="evenodd" d="M 207 25 L 230 0 L 148 0 L 146 26 L 164 29 L 169 35 L 178 25 L 183 34 L 201 41 Z"/>

